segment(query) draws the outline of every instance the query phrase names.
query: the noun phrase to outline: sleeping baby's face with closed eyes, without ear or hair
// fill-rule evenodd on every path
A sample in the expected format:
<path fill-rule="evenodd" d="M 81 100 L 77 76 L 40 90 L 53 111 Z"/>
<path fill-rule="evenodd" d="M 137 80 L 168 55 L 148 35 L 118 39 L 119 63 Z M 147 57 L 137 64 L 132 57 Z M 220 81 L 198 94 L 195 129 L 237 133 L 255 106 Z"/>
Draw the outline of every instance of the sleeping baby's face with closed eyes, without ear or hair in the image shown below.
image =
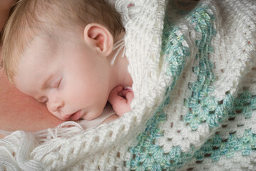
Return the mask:
<path fill-rule="evenodd" d="M 19 61 L 14 82 L 61 120 L 92 120 L 108 100 L 109 65 L 83 41 L 57 45 L 37 37 Z"/>

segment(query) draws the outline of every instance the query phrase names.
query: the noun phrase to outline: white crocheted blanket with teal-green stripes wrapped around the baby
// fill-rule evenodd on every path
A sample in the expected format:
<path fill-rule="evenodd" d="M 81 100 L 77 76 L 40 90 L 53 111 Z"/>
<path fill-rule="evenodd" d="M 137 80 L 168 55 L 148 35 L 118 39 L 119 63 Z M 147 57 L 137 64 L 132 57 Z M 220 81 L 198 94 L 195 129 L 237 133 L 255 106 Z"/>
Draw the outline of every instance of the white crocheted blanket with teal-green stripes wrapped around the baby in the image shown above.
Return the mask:
<path fill-rule="evenodd" d="M 256 170 L 256 1 L 109 2 L 126 28 L 132 111 L 16 131 L 0 140 L 0 169 Z"/>

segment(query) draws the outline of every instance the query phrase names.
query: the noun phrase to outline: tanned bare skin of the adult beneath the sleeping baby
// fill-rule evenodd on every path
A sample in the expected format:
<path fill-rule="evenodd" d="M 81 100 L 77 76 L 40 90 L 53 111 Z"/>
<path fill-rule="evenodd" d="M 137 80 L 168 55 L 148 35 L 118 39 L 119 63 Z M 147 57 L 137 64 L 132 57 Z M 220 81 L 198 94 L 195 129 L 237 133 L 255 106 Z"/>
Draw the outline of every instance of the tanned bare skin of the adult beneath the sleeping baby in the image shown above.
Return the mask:
<path fill-rule="evenodd" d="M 11 0 L 0 1 L 0 31 L 4 27 L 9 16 L 9 10 L 15 2 Z M 0 130 L 34 132 L 54 128 L 63 123 L 63 120 L 51 115 L 44 104 L 36 102 L 34 98 L 21 93 L 15 86 L 11 85 L 3 68 L 0 69 L 0 80 Z M 118 115 L 111 115 L 103 123 L 116 118 Z M 0 134 L 0 138 L 4 137 L 5 135 Z"/>

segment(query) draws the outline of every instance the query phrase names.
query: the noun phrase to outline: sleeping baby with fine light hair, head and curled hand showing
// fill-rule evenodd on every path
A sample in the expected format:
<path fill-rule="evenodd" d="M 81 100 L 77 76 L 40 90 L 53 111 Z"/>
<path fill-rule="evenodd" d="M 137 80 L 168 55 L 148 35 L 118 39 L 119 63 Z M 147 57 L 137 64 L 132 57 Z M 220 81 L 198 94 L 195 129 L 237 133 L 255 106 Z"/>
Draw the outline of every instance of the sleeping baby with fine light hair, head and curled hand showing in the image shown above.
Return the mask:
<path fill-rule="evenodd" d="M 103 0 L 21 0 L 3 35 L 11 83 L 61 120 L 93 120 L 107 101 L 130 110 L 121 16 Z"/>

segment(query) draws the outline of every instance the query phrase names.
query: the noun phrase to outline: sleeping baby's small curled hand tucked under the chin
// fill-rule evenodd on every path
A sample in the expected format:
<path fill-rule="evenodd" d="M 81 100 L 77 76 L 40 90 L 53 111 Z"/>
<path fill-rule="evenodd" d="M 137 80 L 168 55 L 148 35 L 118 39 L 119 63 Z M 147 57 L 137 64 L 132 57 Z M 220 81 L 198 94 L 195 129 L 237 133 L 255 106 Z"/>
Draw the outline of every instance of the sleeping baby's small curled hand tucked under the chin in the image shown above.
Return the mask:
<path fill-rule="evenodd" d="M 134 95 L 132 90 L 124 89 L 123 86 L 117 86 L 111 90 L 108 101 L 111 103 L 116 114 L 122 116 L 124 113 L 131 110 L 130 103 L 133 98 Z"/>

